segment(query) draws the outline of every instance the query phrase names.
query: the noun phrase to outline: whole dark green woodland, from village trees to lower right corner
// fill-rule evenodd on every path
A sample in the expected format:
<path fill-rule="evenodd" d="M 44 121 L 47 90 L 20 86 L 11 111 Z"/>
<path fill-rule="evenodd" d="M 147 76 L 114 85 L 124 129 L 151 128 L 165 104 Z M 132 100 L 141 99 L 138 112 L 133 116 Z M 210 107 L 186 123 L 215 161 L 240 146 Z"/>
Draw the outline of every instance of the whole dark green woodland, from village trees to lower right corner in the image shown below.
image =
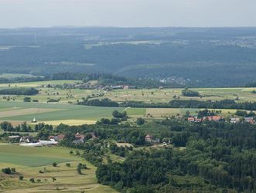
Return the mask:
<path fill-rule="evenodd" d="M 135 126 L 102 120 L 95 125 L 37 128 L 41 137 L 65 134 L 60 144 L 84 150 L 77 155 L 97 166 L 97 180 L 118 191 L 254 192 L 256 187 L 254 124 L 166 119 Z M 73 143 L 77 132 L 86 136 L 94 132 L 97 138 L 90 135 L 84 143 Z M 172 145 L 151 147 L 145 141 L 147 134 Z M 127 141 L 134 148 L 108 141 Z M 110 151 L 125 161 L 111 160 Z"/>

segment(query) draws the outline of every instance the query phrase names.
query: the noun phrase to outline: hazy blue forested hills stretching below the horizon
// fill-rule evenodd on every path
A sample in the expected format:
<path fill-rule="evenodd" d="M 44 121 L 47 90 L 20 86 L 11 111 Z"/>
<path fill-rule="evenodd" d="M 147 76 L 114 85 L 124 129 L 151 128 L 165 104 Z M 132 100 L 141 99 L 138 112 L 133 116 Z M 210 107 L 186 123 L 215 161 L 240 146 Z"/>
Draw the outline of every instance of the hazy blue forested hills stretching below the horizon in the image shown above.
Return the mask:
<path fill-rule="evenodd" d="M 256 28 L 0 29 L 0 73 L 111 73 L 187 86 L 256 82 Z"/>

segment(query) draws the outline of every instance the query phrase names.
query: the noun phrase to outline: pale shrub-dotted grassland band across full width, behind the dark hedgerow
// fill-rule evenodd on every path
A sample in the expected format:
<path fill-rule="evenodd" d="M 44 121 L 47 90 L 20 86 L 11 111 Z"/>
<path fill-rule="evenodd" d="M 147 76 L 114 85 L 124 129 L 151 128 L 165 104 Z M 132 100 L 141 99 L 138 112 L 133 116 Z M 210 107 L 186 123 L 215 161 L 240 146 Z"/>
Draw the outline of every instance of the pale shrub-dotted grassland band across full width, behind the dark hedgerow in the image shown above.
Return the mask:
<path fill-rule="evenodd" d="M 63 84 L 63 83 L 76 83 L 76 80 L 52 80 L 30 83 L 11 83 L 0 84 L 2 87 L 14 87 L 14 86 L 32 86 L 37 87 L 46 84 Z M 46 102 L 49 99 L 60 99 L 59 103 L 72 102 L 76 103 L 77 100 L 81 100 L 88 95 L 97 95 L 104 93 L 101 98 L 108 97 L 111 100 L 117 102 L 123 102 L 127 100 L 144 101 L 146 103 L 168 103 L 173 100 L 173 97 L 180 97 L 182 100 L 194 99 L 194 100 L 224 100 L 224 99 L 236 99 L 239 101 L 256 101 L 256 94 L 251 93 L 256 88 L 194 88 L 191 90 L 198 91 L 202 97 L 183 97 L 183 89 L 138 89 L 138 90 L 61 90 L 57 88 L 38 88 L 39 94 L 36 96 L 29 96 L 32 100 L 39 100 L 39 102 Z M 71 97 L 70 97 L 71 96 Z M 26 96 L 11 96 L 11 100 L 22 101 Z M 6 100 L 4 97 L 0 97 L 0 100 Z"/>

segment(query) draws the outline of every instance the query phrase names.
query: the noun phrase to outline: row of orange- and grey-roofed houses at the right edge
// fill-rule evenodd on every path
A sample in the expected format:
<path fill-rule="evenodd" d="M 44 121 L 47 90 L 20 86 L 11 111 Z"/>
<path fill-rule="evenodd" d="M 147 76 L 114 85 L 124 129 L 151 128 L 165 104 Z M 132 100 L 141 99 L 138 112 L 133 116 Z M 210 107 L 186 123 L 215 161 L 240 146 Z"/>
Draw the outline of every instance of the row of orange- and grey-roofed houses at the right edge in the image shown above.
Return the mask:
<path fill-rule="evenodd" d="M 203 117 L 203 118 L 199 118 L 199 117 L 188 117 L 187 120 L 189 122 L 193 122 L 193 123 L 200 123 L 206 120 L 210 120 L 210 121 L 221 121 L 224 120 L 223 117 L 218 116 L 218 115 L 214 115 L 214 116 L 207 116 L 207 117 Z M 226 120 L 227 121 L 227 120 Z M 241 122 L 245 122 L 248 124 L 256 124 L 256 120 L 254 120 L 254 117 L 244 117 L 244 118 L 239 118 L 239 117 L 232 117 L 230 118 L 229 121 L 231 124 L 237 124 L 237 123 L 241 123 Z"/>

